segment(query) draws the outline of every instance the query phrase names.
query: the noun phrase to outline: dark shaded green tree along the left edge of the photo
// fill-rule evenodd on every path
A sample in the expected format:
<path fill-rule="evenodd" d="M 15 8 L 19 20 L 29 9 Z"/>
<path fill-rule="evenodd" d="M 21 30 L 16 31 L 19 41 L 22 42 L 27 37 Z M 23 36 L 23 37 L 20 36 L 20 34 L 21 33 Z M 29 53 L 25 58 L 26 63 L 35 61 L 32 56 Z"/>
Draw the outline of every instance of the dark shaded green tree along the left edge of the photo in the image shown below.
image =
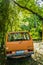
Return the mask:
<path fill-rule="evenodd" d="M 8 22 L 8 16 L 9 16 L 8 11 L 9 11 L 9 0 L 1 0 L 0 1 L 0 43 L 1 43 L 0 54 L 2 52 L 3 54 L 2 56 L 0 56 L 0 58 L 5 57 L 5 48 L 3 47 L 3 45 L 5 44 L 5 34 L 7 32 L 6 24 Z"/>

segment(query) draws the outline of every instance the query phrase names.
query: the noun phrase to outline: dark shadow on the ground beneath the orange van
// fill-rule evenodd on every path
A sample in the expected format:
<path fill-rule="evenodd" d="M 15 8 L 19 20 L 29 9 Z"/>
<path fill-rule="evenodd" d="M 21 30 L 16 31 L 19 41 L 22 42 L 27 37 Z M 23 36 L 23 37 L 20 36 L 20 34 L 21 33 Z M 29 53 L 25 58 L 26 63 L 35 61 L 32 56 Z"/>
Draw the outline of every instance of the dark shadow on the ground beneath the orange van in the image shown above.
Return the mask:
<path fill-rule="evenodd" d="M 7 59 L 6 65 L 38 65 L 38 63 L 31 57 L 20 59 Z"/>

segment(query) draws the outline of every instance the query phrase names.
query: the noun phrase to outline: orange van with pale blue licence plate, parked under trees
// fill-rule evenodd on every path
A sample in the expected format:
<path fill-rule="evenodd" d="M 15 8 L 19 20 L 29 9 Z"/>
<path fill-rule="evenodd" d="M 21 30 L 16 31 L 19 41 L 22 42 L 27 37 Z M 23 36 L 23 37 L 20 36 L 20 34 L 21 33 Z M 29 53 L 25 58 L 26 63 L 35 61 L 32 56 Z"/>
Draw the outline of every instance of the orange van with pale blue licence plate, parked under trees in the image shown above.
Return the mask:
<path fill-rule="evenodd" d="M 6 56 L 21 58 L 34 53 L 33 40 L 29 32 L 9 32 L 6 36 Z"/>

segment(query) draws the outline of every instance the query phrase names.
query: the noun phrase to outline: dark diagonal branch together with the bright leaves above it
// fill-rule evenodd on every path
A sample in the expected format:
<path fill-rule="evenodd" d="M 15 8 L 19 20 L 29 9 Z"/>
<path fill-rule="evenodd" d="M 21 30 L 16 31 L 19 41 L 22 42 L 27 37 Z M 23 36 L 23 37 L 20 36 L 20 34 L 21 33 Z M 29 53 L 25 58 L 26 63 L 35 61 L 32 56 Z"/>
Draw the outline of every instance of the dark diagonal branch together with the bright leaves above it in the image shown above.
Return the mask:
<path fill-rule="evenodd" d="M 19 6 L 20 8 L 23 8 L 23 9 L 26 9 L 26 10 L 28 10 L 28 11 L 30 11 L 30 12 L 32 12 L 33 14 L 35 14 L 35 15 L 37 15 L 39 18 L 40 18 L 40 20 L 43 20 L 43 9 L 39 9 L 38 7 L 36 8 L 35 6 L 35 4 L 34 4 L 34 2 L 35 2 L 35 0 L 30 0 L 30 3 L 27 3 L 26 1 L 26 4 L 28 5 L 28 4 L 31 4 L 31 7 L 33 8 L 33 9 L 31 9 L 30 7 L 29 7 L 29 5 L 27 6 L 27 5 L 25 5 L 24 3 L 21 3 L 21 1 L 15 1 L 15 0 L 13 0 L 14 1 L 14 3 L 17 5 L 17 6 Z M 19 2 L 19 3 L 18 3 Z M 24 1 L 22 1 L 22 2 L 24 2 Z M 22 5 L 21 5 L 22 4 Z M 24 6 L 23 6 L 23 4 L 24 4 Z M 34 11 L 34 9 L 36 9 L 36 11 Z M 37 9 L 38 9 L 38 13 L 37 13 Z M 41 11 L 42 11 L 42 13 L 41 13 Z M 40 13 L 41 14 L 40 14 Z"/>

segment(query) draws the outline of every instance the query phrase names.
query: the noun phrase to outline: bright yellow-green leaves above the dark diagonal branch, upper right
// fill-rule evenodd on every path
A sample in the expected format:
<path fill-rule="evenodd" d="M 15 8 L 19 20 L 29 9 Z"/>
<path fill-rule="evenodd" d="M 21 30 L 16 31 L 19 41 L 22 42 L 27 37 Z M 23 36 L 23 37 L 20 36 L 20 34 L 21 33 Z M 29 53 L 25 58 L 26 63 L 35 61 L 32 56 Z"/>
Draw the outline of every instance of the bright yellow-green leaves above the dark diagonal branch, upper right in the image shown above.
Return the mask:
<path fill-rule="evenodd" d="M 37 12 L 39 15 L 43 17 L 43 7 L 39 7 L 35 0 L 16 0 L 17 3 L 19 3 L 21 6 L 25 6 L 34 12 Z"/>

